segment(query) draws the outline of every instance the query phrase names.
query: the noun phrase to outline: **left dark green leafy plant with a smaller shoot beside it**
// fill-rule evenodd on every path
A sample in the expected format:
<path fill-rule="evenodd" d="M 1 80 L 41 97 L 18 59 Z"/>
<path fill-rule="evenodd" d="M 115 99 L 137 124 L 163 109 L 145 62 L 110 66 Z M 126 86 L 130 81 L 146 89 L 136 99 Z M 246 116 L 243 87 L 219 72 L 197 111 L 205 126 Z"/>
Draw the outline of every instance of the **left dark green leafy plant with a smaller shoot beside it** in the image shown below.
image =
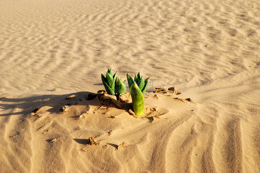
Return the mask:
<path fill-rule="evenodd" d="M 106 72 L 106 77 L 101 74 L 101 79 L 103 85 L 105 86 L 107 94 L 115 95 L 126 93 L 126 82 L 122 82 L 122 80 L 118 77 L 117 80 L 117 71 L 113 75 L 112 70 L 108 69 Z"/>

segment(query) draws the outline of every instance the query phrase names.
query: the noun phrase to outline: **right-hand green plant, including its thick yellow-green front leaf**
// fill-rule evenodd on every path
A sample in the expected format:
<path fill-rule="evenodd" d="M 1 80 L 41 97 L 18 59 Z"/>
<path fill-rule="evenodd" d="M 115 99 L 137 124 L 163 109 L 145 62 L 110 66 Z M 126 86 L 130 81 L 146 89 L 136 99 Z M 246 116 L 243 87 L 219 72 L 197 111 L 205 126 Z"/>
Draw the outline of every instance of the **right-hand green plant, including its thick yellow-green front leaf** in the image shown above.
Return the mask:
<path fill-rule="evenodd" d="M 128 73 L 126 75 L 128 86 L 130 88 L 130 93 L 132 97 L 132 105 L 136 116 L 140 116 L 144 114 L 144 108 L 145 108 L 145 91 L 147 89 L 147 86 L 149 84 L 150 77 L 147 79 L 143 79 L 143 77 L 140 75 L 140 72 L 138 74 L 135 74 L 135 79 L 132 79 Z"/>

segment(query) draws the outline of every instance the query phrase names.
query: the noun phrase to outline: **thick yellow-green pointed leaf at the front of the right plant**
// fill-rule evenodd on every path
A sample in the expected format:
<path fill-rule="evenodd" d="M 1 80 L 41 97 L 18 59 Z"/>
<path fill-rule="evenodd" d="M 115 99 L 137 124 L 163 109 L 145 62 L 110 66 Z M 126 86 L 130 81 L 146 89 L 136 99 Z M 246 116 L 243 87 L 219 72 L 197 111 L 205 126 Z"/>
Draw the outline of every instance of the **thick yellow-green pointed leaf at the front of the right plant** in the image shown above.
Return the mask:
<path fill-rule="evenodd" d="M 130 93 L 132 97 L 133 109 L 136 116 L 140 116 L 144 114 L 145 108 L 145 99 L 144 96 L 139 89 L 138 85 L 134 82 L 134 84 L 130 88 Z"/>

